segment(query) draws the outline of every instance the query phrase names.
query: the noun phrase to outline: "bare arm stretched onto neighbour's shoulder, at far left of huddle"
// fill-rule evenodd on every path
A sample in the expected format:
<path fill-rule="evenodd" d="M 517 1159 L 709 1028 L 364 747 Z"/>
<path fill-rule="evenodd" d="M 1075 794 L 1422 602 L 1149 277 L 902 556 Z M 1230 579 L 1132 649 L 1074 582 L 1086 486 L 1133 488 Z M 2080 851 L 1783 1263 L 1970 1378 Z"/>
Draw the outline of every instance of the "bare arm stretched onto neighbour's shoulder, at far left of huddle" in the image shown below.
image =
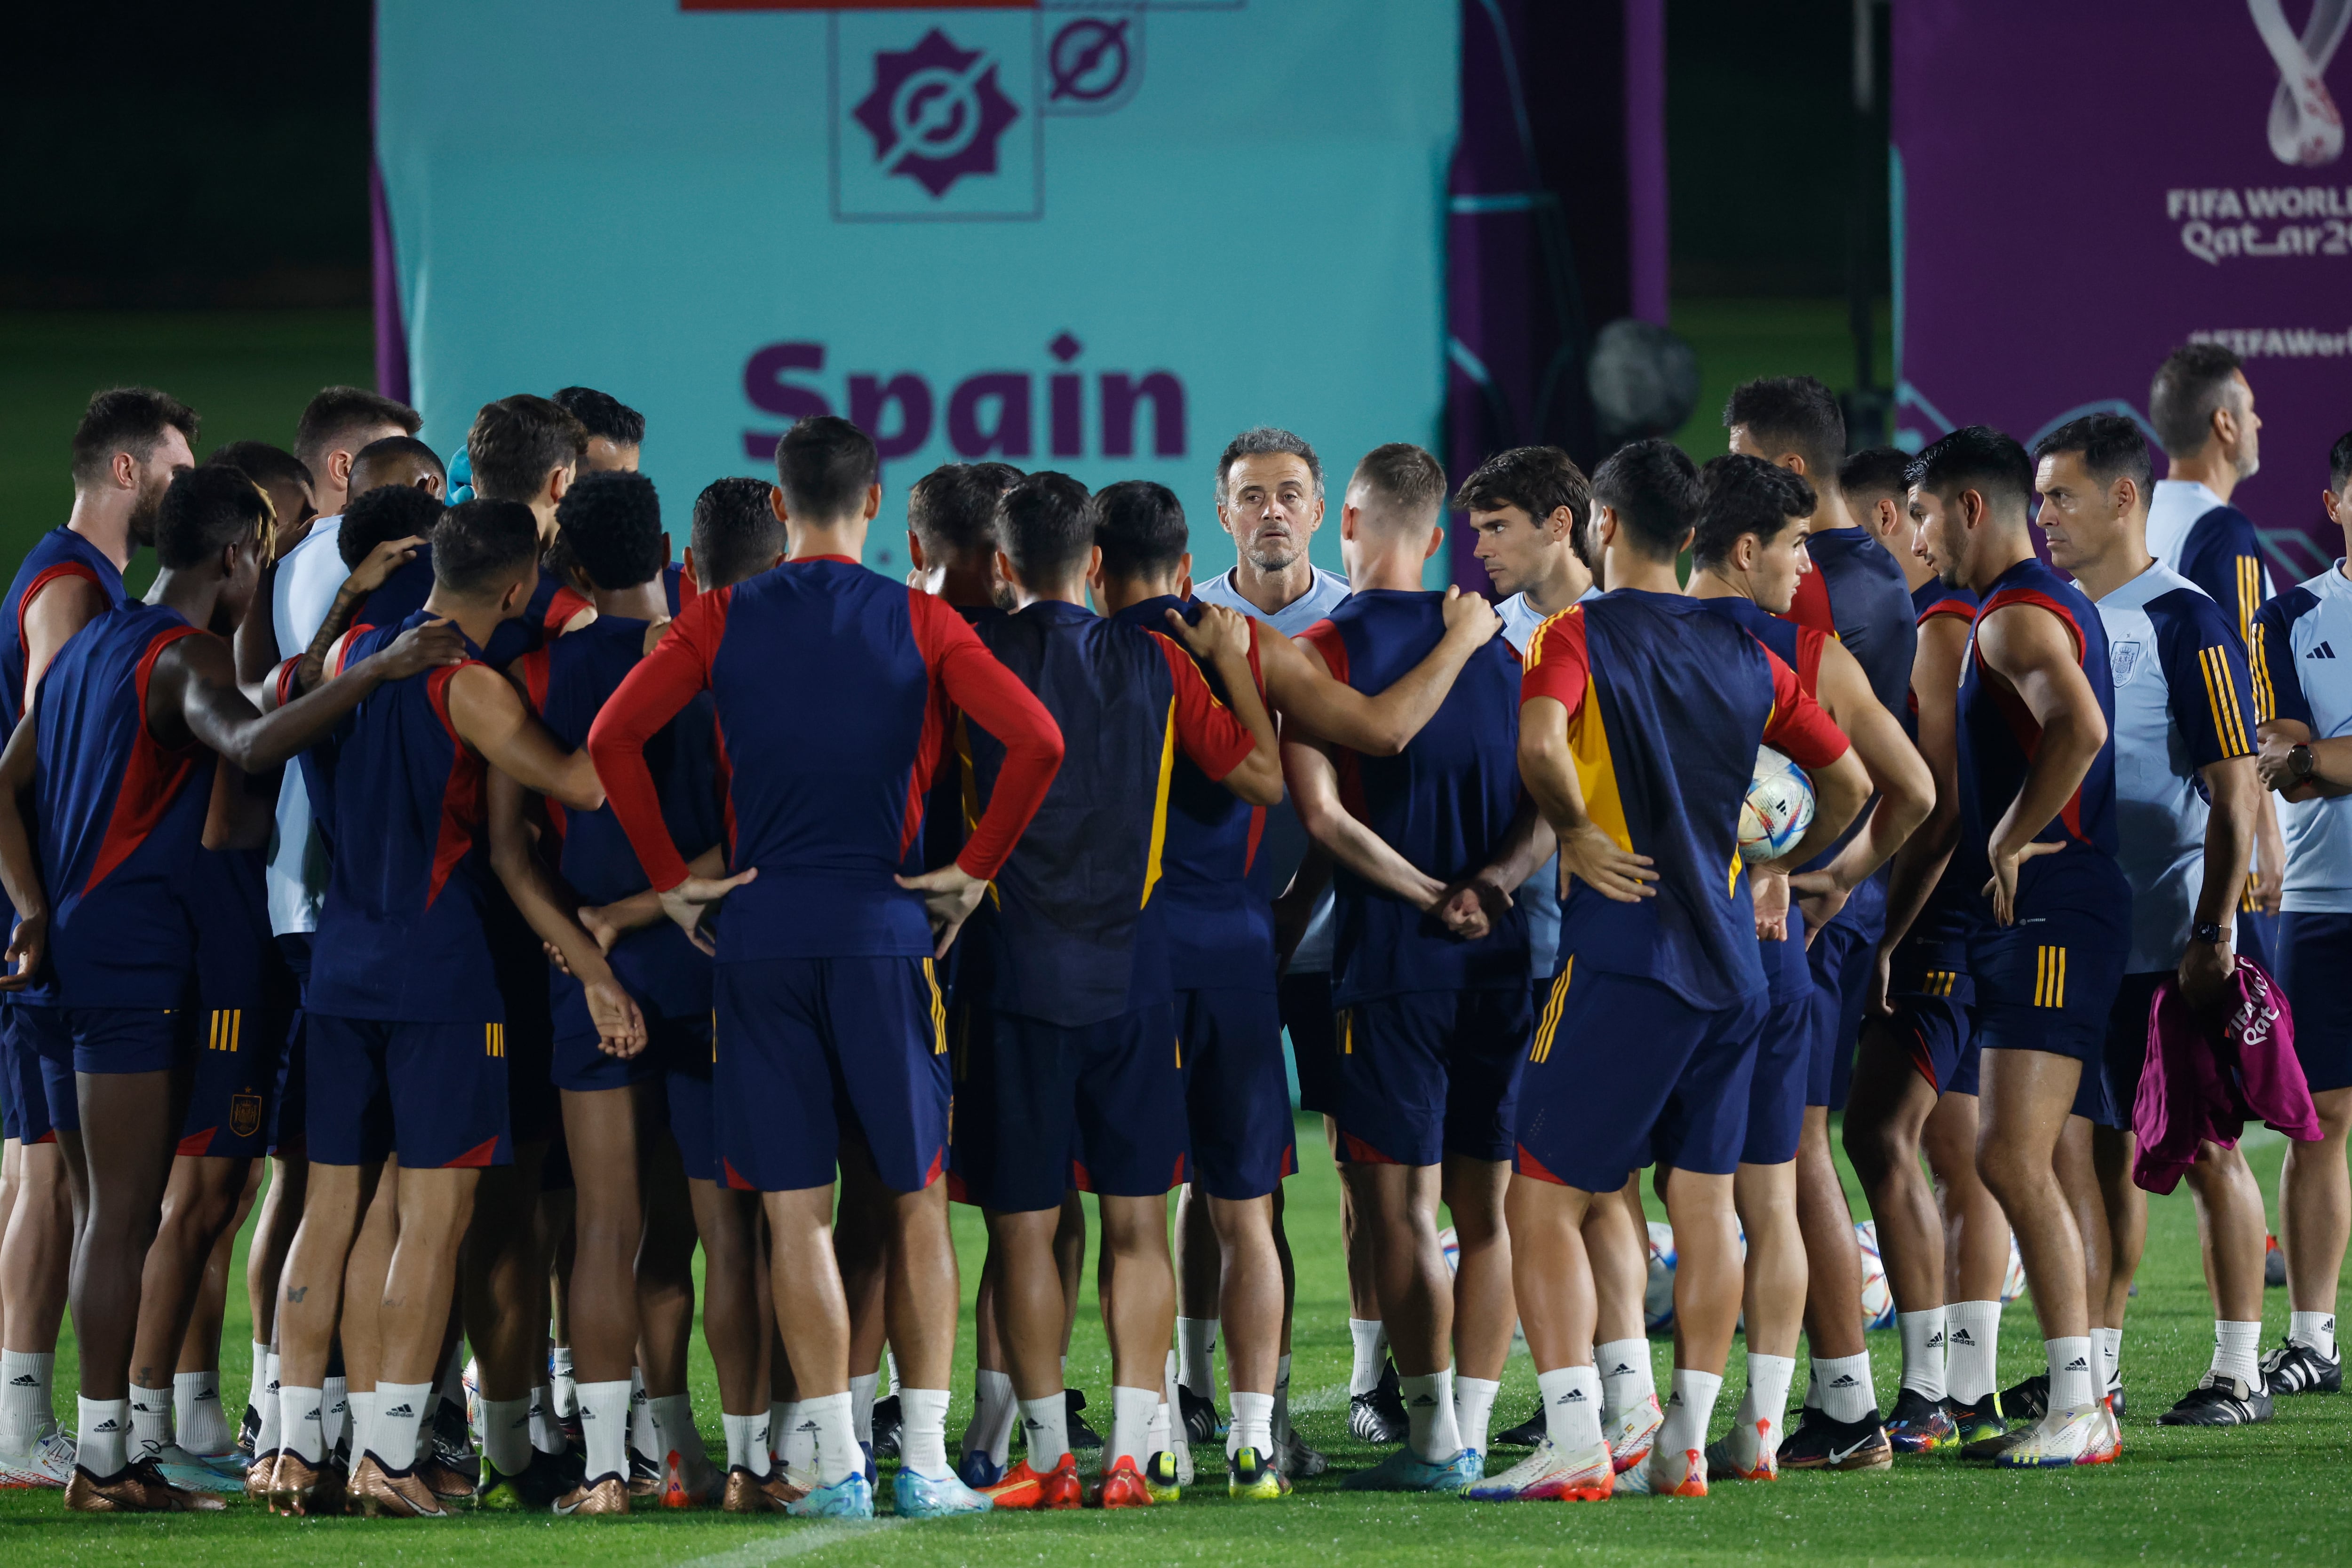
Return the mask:
<path fill-rule="evenodd" d="M 379 684 L 463 658 L 466 644 L 456 628 L 419 625 L 315 691 L 261 712 L 245 701 L 235 656 L 223 639 L 181 637 L 155 658 L 146 724 L 167 745 L 200 741 L 230 766 L 266 773 L 320 741 Z"/>

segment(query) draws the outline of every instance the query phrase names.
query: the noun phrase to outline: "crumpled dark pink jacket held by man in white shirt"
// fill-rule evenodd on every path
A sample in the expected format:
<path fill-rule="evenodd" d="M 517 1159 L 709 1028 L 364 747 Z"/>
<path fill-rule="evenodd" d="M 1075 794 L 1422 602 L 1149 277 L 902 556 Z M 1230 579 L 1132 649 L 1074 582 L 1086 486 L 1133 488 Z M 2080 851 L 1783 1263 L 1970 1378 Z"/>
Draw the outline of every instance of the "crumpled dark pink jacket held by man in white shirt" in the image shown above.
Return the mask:
<path fill-rule="evenodd" d="M 2300 1143 L 2319 1138 L 2286 992 L 2251 959 L 2237 961 L 2234 980 L 2239 1004 L 2218 1039 L 2190 1018 L 2176 980 L 2164 980 L 2147 1004 L 2147 1063 L 2131 1105 L 2140 1140 L 2131 1180 L 2147 1192 L 2178 1187 L 2199 1143 L 2237 1147 L 2253 1119 Z"/>

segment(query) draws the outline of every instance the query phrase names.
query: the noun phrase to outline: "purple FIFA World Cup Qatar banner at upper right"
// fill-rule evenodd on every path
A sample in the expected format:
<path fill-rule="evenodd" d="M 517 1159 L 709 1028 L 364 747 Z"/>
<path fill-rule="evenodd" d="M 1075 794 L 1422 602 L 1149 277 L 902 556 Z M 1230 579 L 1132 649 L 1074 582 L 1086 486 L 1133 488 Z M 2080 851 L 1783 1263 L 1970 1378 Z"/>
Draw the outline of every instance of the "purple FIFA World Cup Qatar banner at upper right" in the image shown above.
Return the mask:
<path fill-rule="evenodd" d="M 2343 552 L 2319 491 L 2352 428 L 2352 160 L 2328 96 L 2352 85 L 2352 0 L 2286 2 L 1893 7 L 1905 447 L 1966 423 L 2030 444 L 2091 409 L 2145 425 L 2164 355 L 2213 339 L 2253 386 L 2263 465 L 2232 503 L 2279 583 Z"/>

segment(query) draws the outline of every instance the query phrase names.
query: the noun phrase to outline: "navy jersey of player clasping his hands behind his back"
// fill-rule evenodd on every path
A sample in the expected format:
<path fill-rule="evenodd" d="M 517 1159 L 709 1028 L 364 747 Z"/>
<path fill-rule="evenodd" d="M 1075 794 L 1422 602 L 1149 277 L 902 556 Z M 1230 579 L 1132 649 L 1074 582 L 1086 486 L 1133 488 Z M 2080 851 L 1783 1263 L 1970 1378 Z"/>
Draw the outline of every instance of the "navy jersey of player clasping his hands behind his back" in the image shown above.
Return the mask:
<path fill-rule="evenodd" d="M 1308 628 L 1331 677 L 1367 696 L 1409 675 L 1446 632 L 1444 595 L 1369 588 Z M 1444 703 L 1399 755 L 1336 750 L 1341 802 L 1439 882 L 1486 865 L 1519 811 L 1519 656 L 1496 637 L 1470 656 Z M 1444 922 L 1357 877 L 1331 875 L 1331 999 L 1503 990 L 1529 983 L 1526 912 L 1465 943 Z"/>

